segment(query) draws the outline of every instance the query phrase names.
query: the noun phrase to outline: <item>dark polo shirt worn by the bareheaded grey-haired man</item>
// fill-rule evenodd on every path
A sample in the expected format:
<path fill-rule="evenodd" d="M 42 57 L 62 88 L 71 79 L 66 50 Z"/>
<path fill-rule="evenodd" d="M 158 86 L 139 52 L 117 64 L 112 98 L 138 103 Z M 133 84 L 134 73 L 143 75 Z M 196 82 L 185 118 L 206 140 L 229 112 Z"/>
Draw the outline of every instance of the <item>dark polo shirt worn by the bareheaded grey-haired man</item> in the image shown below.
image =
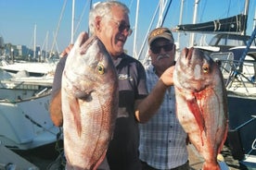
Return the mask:
<path fill-rule="evenodd" d="M 52 96 L 61 87 L 66 58 L 59 60 Z M 139 129 L 134 117 L 134 102 L 147 96 L 146 73 L 142 64 L 129 55 L 122 54 L 113 63 L 119 77 L 119 113 L 107 152 L 109 167 L 111 170 L 138 170 Z"/>

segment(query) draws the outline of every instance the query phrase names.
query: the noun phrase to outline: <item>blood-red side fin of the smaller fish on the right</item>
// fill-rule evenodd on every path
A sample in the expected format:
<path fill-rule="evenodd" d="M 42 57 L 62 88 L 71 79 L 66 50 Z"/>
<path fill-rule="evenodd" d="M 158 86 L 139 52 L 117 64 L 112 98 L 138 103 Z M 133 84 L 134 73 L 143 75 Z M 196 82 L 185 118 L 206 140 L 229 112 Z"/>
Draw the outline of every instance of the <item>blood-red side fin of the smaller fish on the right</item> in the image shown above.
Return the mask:
<path fill-rule="evenodd" d="M 188 105 L 189 110 L 191 111 L 191 113 L 193 113 L 193 115 L 196 118 L 200 132 L 202 132 L 205 128 L 205 122 L 200 107 L 198 106 L 197 99 L 193 98 L 192 100 L 186 100 L 186 103 Z"/>

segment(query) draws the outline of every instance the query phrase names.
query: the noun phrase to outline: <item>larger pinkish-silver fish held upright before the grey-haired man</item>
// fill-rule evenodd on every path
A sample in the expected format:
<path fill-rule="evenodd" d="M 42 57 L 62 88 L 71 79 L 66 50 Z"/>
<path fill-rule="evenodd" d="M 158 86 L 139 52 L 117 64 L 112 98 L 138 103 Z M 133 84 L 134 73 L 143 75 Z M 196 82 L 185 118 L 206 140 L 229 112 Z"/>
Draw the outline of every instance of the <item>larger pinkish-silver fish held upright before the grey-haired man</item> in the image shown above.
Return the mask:
<path fill-rule="evenodd" d="M 67 169 L 96 169 L 106 156 L 118 110 L 116 69 L 97 37 L 82 33 L 62 76 L 64 152 Z"/>

